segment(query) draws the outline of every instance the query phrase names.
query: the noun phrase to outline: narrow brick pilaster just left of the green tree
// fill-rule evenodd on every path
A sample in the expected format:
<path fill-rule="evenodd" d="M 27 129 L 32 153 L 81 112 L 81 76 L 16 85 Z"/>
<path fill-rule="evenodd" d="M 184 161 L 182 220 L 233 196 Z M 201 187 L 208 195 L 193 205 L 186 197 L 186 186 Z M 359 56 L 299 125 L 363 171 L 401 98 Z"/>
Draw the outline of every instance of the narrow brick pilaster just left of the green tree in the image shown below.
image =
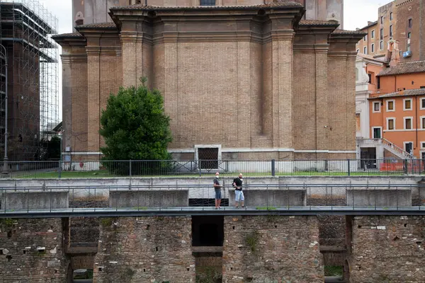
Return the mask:
<path fill-rule="evenodd" d="M 100 136 L 100 53 L 101 47 L 87 46 L 87 151 L 99 151 Z"/>

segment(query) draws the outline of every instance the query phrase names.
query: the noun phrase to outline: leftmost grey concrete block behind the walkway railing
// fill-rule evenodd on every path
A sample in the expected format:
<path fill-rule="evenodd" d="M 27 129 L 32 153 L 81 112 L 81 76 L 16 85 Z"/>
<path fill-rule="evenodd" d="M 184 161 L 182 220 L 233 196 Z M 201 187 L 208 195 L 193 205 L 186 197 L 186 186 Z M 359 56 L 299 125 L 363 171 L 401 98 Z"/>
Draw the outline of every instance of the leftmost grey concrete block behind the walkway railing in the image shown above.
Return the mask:
<path fill-rule="evenodd" d="M 48 192 L 3 192 L 1 209 L 67 209 L 69 207 L 68 191 Z"/>

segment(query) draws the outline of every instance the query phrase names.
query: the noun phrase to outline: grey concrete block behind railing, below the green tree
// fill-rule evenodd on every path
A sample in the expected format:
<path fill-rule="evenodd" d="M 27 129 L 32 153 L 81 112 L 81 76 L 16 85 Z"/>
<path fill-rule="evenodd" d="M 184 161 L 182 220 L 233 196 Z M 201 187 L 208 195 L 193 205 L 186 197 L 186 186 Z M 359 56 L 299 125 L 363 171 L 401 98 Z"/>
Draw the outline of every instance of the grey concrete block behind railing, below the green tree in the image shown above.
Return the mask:
<path fill-rule="evenodd" d="M 189 190 L 118 190 L 109 192 L 109 207 L 188 207 Z"/>

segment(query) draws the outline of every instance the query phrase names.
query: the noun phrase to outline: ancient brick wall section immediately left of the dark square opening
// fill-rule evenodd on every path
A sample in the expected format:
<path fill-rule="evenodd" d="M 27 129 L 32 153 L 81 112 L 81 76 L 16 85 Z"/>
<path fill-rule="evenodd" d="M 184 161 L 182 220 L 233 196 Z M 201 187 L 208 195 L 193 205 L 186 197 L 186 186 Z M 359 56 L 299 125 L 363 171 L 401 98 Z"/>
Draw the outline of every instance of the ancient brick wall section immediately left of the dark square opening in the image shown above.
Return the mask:
<path fill-rule="evenodd" d="M 101 218 L 94 282 L 195 282 L 191 217 Z"/>

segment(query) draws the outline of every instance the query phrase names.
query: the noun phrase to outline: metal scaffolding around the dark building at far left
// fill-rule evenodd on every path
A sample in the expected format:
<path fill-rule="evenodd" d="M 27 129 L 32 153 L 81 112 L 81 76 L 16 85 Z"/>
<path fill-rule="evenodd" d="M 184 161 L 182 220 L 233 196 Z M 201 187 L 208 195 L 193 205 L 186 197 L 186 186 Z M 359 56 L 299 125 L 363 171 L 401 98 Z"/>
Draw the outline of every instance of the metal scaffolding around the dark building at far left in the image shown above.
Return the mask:
<path fill-rule="evenodd" d="M 0 0 L 0 44 L 8 55 L 8 158 L 42 158 L 59 122 L 58 20 L 37 0 Z M 4 60 L 0 60 L 0 134 L 5 126 Z M 4 147 L 4 138 L 1 139 Z M 0 154 L 3 158 L 3 153 Z"/>

